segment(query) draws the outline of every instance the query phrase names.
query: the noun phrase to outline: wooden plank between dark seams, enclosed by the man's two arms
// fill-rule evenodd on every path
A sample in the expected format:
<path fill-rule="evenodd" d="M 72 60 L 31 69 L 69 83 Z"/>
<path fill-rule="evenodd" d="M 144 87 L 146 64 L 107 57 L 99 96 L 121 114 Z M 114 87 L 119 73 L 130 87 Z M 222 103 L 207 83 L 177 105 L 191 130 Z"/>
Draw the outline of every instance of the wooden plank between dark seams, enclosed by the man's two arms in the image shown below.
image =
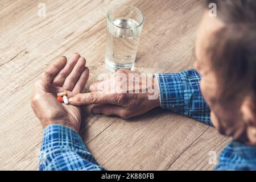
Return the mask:
<path fill-rule="evenodd" d="M 133 119 L 118 119 L 87 147 L 110 170 L 167 170 L 208 127 L 156 109 Z"/>

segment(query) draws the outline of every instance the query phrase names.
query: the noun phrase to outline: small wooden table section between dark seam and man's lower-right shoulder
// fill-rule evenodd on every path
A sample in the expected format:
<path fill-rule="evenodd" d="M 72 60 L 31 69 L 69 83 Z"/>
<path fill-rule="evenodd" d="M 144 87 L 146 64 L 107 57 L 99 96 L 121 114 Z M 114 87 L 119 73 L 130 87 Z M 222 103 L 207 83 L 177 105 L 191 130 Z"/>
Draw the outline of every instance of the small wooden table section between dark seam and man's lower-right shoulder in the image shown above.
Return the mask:
<path fill-rule="evenodd" d="M 213 127 L 209 127 L 168 170 L 212 170 L 218 163 L 221 150 L 231 140 L 229 137 L 220 135 Z"/>

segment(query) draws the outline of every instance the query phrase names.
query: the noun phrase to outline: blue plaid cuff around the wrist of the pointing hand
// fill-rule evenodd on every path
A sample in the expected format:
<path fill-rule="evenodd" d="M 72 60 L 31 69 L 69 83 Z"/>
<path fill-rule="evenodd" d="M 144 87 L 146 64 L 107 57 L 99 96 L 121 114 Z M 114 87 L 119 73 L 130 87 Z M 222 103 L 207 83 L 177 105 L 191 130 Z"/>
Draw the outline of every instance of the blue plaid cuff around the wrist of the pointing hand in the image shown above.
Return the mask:
<path fill-rule="evenodd" d="M 162 109 L 184 113 L 184 84 L 179 73 L 155 73 Z"/>

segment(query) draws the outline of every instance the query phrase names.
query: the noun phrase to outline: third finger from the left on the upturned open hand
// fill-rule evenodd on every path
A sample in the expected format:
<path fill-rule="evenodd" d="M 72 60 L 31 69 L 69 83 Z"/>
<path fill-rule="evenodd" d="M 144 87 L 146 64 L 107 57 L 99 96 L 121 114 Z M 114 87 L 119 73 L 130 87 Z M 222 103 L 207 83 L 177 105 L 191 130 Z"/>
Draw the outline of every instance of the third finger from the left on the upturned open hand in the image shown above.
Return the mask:
<path fill-rule="evenodd" d="M 75 67 L 73 68 L 72 72 L 65 79 L 63 84 L 64 89 L 73 90 L 77 80 L 79 80 L 79 77 L 81 76 L 82 72 L 85 70 L 85 63 L 86 63 L 85 58 L 80 57 Z"/>

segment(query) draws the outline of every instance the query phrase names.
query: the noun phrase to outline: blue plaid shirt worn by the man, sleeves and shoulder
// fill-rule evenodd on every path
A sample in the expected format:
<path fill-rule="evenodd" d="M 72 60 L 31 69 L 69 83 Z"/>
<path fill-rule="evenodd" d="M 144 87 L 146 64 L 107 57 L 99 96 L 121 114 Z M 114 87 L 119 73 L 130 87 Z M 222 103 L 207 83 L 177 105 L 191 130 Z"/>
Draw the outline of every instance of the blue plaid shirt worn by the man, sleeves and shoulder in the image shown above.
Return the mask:
<path fill-rule="evenodd" d="M 200 92 L 201 76 L 190 69 L 179 73 L 155 74 L 163 109 L 187 115 L 211 125 L 210 109 Z M 76 131 L 63 125 L 44 129 L 39 156 L 40 170 L 104 170 L 85 147 Z M 216 170 L 256 170 L 256 147 L 233 141 L 224 148 Z"/>

